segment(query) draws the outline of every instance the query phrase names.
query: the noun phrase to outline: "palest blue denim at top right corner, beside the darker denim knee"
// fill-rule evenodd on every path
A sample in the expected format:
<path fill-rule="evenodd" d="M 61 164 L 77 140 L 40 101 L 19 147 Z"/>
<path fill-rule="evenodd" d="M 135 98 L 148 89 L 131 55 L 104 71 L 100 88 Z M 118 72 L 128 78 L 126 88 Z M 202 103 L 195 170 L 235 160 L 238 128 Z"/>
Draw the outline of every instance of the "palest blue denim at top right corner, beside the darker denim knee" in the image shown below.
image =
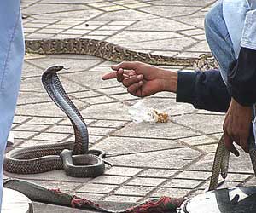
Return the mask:
<path fill-rule="evenodd" d="M 241 47 L 256 49 L 256 0 L 223 0 L 224 20 L 236 58 Z"/>

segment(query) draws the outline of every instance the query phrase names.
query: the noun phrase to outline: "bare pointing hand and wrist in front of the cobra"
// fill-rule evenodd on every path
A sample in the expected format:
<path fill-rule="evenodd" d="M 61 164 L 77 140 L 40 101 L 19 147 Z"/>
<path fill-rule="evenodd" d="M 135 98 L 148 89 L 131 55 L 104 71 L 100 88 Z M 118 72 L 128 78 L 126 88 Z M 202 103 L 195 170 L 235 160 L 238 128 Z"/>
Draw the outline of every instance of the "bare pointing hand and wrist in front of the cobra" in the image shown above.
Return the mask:
<path fill-rule="evenodd" d="M 112 66 L 114 72 L 102 79 L 117 78 L 131 95 L 144 97 L 160 91 L 177 92 L 177 72 L 150 66 L 142 62 L 122 62 Z"/>

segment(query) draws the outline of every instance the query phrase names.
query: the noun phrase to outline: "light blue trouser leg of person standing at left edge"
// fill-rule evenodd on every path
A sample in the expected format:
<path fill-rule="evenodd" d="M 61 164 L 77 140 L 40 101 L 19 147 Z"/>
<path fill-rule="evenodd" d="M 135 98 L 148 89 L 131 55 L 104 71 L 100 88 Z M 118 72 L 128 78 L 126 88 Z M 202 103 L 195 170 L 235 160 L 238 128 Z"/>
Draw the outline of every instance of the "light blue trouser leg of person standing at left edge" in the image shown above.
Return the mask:
<path fill-rule="evenodd" d="M 20 89 L 23 56 L 20 0 L 0 0 L 0 207 L 3 191 L 3 154 Z"/>

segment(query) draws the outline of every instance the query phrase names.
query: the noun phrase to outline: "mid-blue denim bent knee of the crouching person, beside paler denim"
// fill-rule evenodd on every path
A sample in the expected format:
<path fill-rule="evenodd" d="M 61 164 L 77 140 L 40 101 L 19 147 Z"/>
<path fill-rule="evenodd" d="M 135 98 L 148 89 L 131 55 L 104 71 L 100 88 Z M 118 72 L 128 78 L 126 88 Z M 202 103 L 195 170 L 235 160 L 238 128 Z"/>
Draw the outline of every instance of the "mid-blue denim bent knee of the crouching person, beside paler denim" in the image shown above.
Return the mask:
<path fill-rule="evenodd" d="M 218 61 L 224 83 L 227 82 L 227 72 L 236 60 L 233 43 L 223 17 L 223 3 L 218 1 L 212 6 L 205 18 L 207 43 Z"/>

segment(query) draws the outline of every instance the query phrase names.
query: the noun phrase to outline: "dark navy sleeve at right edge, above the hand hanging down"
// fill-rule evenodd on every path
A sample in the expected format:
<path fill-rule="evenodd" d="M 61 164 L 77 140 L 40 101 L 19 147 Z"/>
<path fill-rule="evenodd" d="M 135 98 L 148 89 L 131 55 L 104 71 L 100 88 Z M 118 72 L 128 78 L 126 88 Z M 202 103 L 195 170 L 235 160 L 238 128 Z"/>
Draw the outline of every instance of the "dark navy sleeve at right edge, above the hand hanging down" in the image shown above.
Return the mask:
<path fill-rule="evenodd" d="M 241 48 L 238 60 L 228 73 L 227 88 L 242 106 L 256 103 L 256 50 Z"/>

